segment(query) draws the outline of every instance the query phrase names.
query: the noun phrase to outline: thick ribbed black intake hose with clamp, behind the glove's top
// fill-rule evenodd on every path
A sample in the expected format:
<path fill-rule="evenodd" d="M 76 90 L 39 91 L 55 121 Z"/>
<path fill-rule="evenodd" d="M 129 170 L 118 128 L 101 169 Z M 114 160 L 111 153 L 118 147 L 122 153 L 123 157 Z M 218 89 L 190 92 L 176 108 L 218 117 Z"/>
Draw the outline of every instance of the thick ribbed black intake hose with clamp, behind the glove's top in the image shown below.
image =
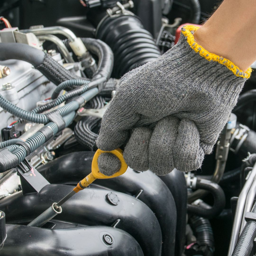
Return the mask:
<path fill-rule="evenodd" d="M 160 56 L 154 38 L 143 28 L 143 24 L 136 16 L 106 16 L 99 23 L 96 37 L 113 50 L 115 78 L 120 78 L 129 70 Z"/>

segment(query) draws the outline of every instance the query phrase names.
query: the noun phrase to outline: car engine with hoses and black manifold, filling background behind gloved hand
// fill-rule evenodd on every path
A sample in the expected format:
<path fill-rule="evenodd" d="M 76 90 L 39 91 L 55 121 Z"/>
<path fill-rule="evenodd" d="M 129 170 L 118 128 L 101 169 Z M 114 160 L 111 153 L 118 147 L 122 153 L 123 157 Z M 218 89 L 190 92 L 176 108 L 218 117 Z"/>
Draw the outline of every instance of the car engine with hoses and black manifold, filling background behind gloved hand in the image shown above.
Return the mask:
<path fill-rule="evenodd" d="M 201 169 L 157 176 L 128 167 L 54 208 L 90 174 L 119 79 L 220 2 L 0 2 L 0 255 L 255 255 L 253 73 Z M 55 217 L 37 223 L 52 205 Z"/>

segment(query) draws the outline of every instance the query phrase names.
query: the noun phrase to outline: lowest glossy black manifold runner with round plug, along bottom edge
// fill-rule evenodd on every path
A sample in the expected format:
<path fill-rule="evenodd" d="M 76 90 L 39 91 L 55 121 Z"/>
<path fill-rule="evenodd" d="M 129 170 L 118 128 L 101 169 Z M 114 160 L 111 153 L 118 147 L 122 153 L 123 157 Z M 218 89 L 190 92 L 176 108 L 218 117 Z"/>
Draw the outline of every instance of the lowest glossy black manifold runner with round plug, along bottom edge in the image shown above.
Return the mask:
<path fill-rule="evenodd" d="M 4 256 L 143 256 L 137 241 L 113 227 L 46 229 L 6 225 Z"/>

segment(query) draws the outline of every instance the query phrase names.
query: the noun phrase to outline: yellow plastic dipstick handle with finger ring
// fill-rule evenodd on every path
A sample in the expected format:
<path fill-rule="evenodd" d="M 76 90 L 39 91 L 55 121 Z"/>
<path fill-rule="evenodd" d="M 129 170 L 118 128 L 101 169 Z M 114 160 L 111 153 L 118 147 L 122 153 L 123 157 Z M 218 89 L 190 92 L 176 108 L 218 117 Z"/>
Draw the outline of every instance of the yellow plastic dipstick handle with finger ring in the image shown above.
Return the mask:
<path fill-rule="evenodd" d="M 98 166 L 98 158 L 102 153 L 112 153 L 114 155 L 116 155 L 116 157 L 118 157 L 118 159 L 121 162 L 121 168 L 119 169 L 118 172 L 116 172 L 114 175 L 111 176 L 107 176 L 104 175 L 103 173 L 101 173 L 99 171 L 99 166 Z M 80 190 L 85 189 L 87 186 L 89 186 L 91 183 L 93 183 L 94 180 L 96 179 L 110 179 L 110 178 L 114 178 L 114 177 L 118 177 L 122 174 L 124 174 L 127 170 L 128 166 L 125 163 L 124 157 L 123 157 L 123 152 L 122 149 L 117 148 L 115 150 L 112 151 L 103 151 L 98 149 L 93 157 L 93 161 L 92 161 L 92 172 L 90 174 L 88 174 L 84 179 L 82 179 L 77 185 L 76 187 L 73 189 L 74 192 L 79 192 Z"/>

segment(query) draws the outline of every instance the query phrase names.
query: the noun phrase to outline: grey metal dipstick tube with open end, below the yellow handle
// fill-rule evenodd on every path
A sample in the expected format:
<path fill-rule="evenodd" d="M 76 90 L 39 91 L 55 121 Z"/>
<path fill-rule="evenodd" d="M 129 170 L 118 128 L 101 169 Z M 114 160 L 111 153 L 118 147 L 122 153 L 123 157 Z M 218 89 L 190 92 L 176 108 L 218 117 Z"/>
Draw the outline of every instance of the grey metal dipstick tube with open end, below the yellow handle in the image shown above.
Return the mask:
<path fill-rule="evenodd" d="M 35 218 L 33 221 L 31 221 L 27 226 L 30 227 L 42 227 L 44 224 L 46 224 L 49 220 L 54 218 L 57 214 L 62 212 L 62 208 L 55 207 L 57 203 L 53 203 L 51 207 L 49 207 L 47 210 L 45 210 L 43 213 L 41 213 L 37 218 Z"/>

